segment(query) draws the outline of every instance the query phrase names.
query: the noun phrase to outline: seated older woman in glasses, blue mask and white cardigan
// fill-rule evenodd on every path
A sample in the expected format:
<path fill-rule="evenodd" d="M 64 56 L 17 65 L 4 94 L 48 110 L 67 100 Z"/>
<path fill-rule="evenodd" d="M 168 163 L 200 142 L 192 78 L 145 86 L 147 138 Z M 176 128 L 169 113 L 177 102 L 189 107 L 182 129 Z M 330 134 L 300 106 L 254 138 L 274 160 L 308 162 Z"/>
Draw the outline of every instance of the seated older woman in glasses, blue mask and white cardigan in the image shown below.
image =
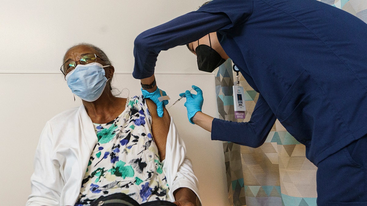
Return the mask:
<path fill-rule="evenodd" d="M 44 127 L 26 205 L 200 204 L 197 179 L 168 111 L 158 117 L 150 99 L 114 96 L 115 69 L 94 45 L 71 47 L 63 62 L 65 80 L 83 104 Z"/>

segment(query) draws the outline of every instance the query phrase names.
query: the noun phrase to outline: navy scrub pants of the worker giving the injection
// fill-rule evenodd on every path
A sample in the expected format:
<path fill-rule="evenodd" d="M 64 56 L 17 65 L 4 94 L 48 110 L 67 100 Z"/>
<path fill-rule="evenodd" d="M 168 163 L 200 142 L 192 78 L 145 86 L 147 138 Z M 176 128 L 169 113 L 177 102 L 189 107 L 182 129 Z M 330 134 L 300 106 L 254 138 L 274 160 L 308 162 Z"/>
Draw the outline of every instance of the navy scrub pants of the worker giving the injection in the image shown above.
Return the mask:
<path fill-rule="evenodd" d="M 321 161 L 318 206 L 367 206 L 367 135 Z"/>

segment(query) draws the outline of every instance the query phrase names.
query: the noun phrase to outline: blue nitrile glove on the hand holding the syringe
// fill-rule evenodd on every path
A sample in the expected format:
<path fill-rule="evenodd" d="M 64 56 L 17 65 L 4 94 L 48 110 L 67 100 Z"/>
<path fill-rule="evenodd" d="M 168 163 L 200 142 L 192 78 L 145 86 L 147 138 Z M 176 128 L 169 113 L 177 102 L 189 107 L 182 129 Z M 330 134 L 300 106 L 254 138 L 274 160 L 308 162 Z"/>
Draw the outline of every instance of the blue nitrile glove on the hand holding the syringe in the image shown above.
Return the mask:
<path fill-rule="evenodd" d="M 201 111 L 201 107 L 203 107 L 203 91 L 199 87 L 196 87 L 195 85 L 192 85 L 192 88 L 197 92 L 196 95 L 190 93 L 189 90 L 186 90 L 185 93 L 179 94 L 180 96 L 185 95 L 186 102 L 185 107 L 187 109 L 187 117 L 189 118 L 189 122 L 191 124 L 195 124 L 192 122 L 192 117 L 198 112 Z"/>

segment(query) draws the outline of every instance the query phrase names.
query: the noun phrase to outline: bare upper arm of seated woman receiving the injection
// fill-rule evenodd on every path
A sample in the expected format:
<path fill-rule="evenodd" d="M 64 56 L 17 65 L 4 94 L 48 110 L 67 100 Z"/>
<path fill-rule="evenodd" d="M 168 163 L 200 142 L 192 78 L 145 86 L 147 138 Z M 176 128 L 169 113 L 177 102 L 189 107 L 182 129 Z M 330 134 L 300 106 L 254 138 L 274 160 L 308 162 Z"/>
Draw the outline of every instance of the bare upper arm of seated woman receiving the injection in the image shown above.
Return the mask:
<path fill-rule="evenodd" d="M 163 117 L 159 117 L 157 105 L 150 99 L 145 99 L 145 101 L 152 115 L 152 136 L 158 147 L 160 161 L 163 161 L 166 157 L 166 142 L 168 130 L 170 129 L 171 117 L 165 107 L 163 107 Z"/>

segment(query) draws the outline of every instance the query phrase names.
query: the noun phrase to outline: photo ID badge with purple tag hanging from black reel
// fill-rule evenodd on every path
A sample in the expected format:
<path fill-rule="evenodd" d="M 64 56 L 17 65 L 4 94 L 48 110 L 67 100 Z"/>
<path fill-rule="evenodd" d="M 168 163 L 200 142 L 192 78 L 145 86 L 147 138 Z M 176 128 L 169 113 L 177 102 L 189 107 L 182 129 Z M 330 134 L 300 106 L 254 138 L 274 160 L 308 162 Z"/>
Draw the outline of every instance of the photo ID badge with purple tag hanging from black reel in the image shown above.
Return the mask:
<path fill-rule="evenodd" d="M 233 85 L 233 104 L 235 106 L 235 118 L 236 119 L 244 119 L 246 117 L 245 111 L 245 101 L 243 100 L 245 96 L 245 92 L 243 90 L 243 87 L 240 86 L 240 80 L 239 80 L 239 72 L 240 70 L 237 68 L 236 65 L 233 65 L 233 71 L 235 71 L 236 74 L 236 85 Z"/>

